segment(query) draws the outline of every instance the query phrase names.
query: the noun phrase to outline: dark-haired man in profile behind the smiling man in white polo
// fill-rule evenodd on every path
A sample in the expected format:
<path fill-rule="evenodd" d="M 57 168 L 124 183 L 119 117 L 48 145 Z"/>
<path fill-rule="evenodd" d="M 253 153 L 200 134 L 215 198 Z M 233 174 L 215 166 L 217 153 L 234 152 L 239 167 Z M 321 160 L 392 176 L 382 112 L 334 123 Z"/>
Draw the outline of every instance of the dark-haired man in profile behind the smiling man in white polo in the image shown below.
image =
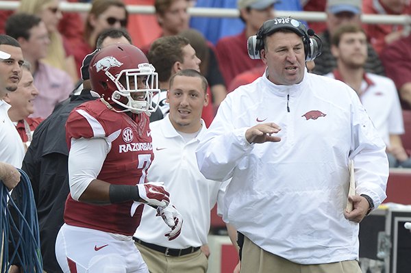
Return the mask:
<path fill-rule="evenodd" d="M 158 94 L 160 98 L 157 99 L 157 97 L 155 97 L 155 101 L 158 101 L 165 115 L 170 109 L 169 103 L 166 101 L 166 91 L 169 90 L 171 76 L 179 70 L 184 69 L 194 69 L 200 72 L 201 60 L 197 57 L 188 39 L 182 36 L 164 36 L 158 38 L 151 44 L 147 57 L 158 73 L 161 92 Z M 210 88 L 208 88 L 207 93 L 207 101 L 209 102 Z M 203 118 L 207 126 L 210 126 L 214 118 L 214 112 L 212 111 L 212 107 L 208 107 L 208 104 L 206 104 L 206 109 L 203 109 L 201 118 Z"/>

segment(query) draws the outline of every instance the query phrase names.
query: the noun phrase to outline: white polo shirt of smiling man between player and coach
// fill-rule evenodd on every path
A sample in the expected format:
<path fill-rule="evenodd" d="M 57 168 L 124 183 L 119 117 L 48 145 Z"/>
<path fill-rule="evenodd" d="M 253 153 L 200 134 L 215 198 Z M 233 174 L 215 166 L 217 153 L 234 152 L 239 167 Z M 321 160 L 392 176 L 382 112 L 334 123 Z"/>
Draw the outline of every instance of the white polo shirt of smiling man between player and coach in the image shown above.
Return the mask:
<path fill-rule="evenodd" d="M 210 229 L 210 210 L 219 199 L 223 199 L 225 183 L 206 179 L 199 171 L 195 149 L 199 138 L 205 133 L 206 125 L 196 138 L 186 142 L 170 122 L 169 114 L 162 120 L 150 123 L 153 138 L 154 160 L 148 170 L 149 181 L 162 181 L 170 192 L 171 203 L 175 205 L 184 220 L 182 233 L 173 241 L 167 241 L 164 233 L 170 231 L 156 211 L 145 206 L 140 226 L 134 237 L 144 242 L 169 248 L 188 248 L 207 244 Z"/>

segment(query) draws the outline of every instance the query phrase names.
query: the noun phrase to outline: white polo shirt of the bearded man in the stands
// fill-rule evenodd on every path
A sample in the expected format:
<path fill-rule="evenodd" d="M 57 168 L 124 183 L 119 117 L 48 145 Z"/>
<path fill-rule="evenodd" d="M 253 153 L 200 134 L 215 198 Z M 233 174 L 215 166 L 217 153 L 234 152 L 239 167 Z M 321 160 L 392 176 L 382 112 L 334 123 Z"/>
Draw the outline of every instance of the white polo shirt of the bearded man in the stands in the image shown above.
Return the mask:
<path fill-rule="evenodd" d="M 338 70 L 325 76 L 343 81 Z M 365 73 L 361 83 L 360 101 L 387 146 L 390 146 L 390 135 L 404 133 L 401 104 L 393 80 Z"/>

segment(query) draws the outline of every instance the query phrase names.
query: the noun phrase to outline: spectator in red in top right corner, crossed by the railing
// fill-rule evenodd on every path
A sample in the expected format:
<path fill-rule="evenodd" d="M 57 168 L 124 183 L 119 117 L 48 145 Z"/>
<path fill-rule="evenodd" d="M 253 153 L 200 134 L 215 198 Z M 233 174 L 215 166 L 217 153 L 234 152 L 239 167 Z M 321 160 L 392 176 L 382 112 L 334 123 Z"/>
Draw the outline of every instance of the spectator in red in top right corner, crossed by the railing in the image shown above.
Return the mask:
<path fill-rule="evenodd" d="M 364 0 L 362 10 L 364 14 L 411 15 L 409 0 Z M 364 24 L 364 30 L 378 55 L 387 44 L 410 33 L 403 25 L 392 24 Z"/>

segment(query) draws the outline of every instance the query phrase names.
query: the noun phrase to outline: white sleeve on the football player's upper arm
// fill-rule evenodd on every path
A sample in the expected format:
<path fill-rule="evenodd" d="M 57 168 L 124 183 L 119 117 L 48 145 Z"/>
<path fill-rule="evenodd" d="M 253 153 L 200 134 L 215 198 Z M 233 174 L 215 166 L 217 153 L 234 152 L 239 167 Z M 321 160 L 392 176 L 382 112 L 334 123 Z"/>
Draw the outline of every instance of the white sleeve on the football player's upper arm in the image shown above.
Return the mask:
<path fill-rule="evenodd" d="M 71 197 L 79 200 L 88 185 L 103 166 L 110 146 L 104 138 L 79 138 L 71 140 L 69 153 L 69 184 Z"/>

